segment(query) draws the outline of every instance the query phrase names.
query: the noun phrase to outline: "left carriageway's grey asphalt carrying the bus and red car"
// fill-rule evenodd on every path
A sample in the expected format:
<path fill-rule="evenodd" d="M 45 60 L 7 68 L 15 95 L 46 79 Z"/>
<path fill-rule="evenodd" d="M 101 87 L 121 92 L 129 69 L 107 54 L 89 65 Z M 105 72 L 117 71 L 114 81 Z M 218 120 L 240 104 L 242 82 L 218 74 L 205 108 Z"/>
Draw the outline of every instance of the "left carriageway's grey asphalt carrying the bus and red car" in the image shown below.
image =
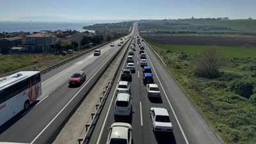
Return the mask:
<path fill-rule="evenodd" d="M 0 141 L 46 143 L 98 79 L 102 67 L 108 67 L 107 61 L 120 49 L 119 42 L 111 42 L 115 47 L 100 47 L 100 56 L 93 56 L 92 51 L 42 75 L 42 96 L 29 111 L 22 111 L 0 127 Z M 86 81 L 79 87 L 69 87 L 70 76 L 79 70 L 86 72 Z"/>

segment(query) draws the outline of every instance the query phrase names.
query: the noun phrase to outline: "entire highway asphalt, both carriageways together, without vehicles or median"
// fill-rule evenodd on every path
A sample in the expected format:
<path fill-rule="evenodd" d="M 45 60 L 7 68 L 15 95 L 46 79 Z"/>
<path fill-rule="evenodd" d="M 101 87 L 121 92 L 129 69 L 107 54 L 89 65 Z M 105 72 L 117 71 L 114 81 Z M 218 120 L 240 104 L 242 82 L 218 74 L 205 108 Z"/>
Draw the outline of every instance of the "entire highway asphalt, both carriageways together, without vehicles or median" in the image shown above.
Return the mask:
<path fill-rule="evenodd" d="M 133 33 L 138 35 L 137 23 L 134 26 Z M 120 49 L 117 46 L 118 42 L 120 40 L 113 42 L 115 47 L 109 47 L 109 44 L 100 47 L 100 56 L 93 56 L 93 52 L 89 52 L 42 75 L 42 96 L 29 111 L 20 113 L 0 127 L 0 141 L 47 143 L 70 111 L 98 79 L 97 72 L 101 70 L 100 67 L 104 65 L 107 67 L 106 61 Z M 95 129 L 93 129 L 93 134 L 87 142 L 106 143 L 108 127 L 114 122 L 127 122 L 133 128 L 133 143 L 221 143 L 154 51 L 145 42 L 143 45 L 148 66 L 152 68 L 154 82 L 159 85 L 161 91 L 161 99 L 148 99 L 147 97 L 140 67 L 140 48 L 136 43 L 133 56 L 136 72 L 132 74 L 131 81 L 132 115 L 114 116 L 115 86 L 113 86 Z M 125 68 L 126 64 L 124 61 L 122 67 Z M 86 81 L 79 87 L 70 88 L 68 80 L 78 70 L 86 72 Z M 115 83 L 119 81 L 119 76 L 120 72 Z M 152 107 L 168 110 L 173 124 L 173 133 L 152 131 L 149 116 L 149 110 Z"/>

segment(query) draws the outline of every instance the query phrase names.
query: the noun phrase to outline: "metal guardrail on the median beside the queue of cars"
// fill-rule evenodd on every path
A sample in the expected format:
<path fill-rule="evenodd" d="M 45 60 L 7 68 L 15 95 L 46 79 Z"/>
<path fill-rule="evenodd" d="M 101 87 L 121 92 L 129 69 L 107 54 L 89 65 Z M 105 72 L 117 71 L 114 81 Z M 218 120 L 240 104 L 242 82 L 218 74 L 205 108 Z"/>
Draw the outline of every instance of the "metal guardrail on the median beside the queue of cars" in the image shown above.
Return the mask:
<path fill-rule="evenodd" d="M 129 45 L 131 44 L 131 40 L 132 40 L 132 38 L 131 38 L 130 40 L 127 40 L 127 42 L 129 41 Z M 125 42 L 125 44 L 127 44 L 127 42 Z M 124 48 L 125 44 L 122 45 L 122 48 Z M 106 89 L 106 92 L 104 92 L 104 93 L 105 93 L 105 94 L 104 94 L 104 97 L 102 98 L 102 100 L 100 100 L 99 106 L 97 106 L 97 111 L 96 111 L 96 113 L 93 113 L 94 116 L 92 115 L 92 116 L 93 116 L 93 119 L 92 119 L 92 123 L 91 123 L 90 126 L 89 126 L 89 129 L 87 129 L 87 127 L 86 127 L 86 134 L 85 134 L 84 138 L 78 138 L 79 144 L 81 143 L 81 141 L 82 141 L 83 144 L 86 143 L 86 142 L 88 141 L 88 138 L 92 135 L 93 128 L 95 127 L 95 124 L 97 123 L 97 120 L 98 120 L 98 118 L 99 118 L 99 116 L 100 116 L 100 113 L 101 113 L 103 107 L 104 107 L 104 104 L 105 104 L 105 102 L 106 102 L 106 100 L 107 100 L 107 98 L 108 98 L 108 96 L 109 96 L 109 92 L 111 91 L 111 88 L 112 88 L 112 86 L 113 86 L 113 84 L 114 84 L 114 81 L 115 81 L 115 79 L 116 79 L 116 76 L 117 76 L 117 74 L 118 74 L 118 71 L 120 70 L 120 67 L 121 67 L 121 65 L 122 65 L 122 62 L 124 61 L 125 54 L 127 54 L 127 51 L 128 51 L 128 49 L 129 49 L 129 45 L 128 45 L 128 47 L 127 47 L 125 53 L 124 53 L 124 56 L 122 56 L 122 59 L 121 59 L 120 63 L 118 64 L 118 67 L 116 68 L 115 74 L 114 74 L 114 76 L 112 77 L 111 82 L 108 84 L 108 88 Z M 122 49 L 120 49 L 120 51 L 121 51 L 121 50 L 122 50 Z M 119 51 L 119 52 L 120 52 L 120 51 Z M 119 52 L 118 52 L 118 53 L 119 53 Z M 118 54 L 118 53 L 117 53 L 117 54 Z M 116 55 L 117 55 L 117 54 L 116 54 Z M 114 60 L 114 59 L 113 59 L 113 60 Z M 112 60 L 112 61 L 113 61 L 113 60 Z M 106 86 L 106 87 L 107 87 L 107 86 Z M 86 125 L 86 126 L 88 126 L 88 125 Z"/>

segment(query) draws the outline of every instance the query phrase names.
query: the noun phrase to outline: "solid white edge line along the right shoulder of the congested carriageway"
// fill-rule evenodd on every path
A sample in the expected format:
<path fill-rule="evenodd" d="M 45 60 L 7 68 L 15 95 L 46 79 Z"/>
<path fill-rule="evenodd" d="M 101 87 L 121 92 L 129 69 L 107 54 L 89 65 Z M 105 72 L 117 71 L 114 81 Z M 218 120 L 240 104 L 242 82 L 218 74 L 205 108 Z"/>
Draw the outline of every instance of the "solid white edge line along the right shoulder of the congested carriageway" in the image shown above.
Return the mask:
<path fill-rule="evenodd" d="M 145 51 L 145 52 L 146 52 L 146 51 Z M 146 52 L 146 54 L 147 54 L 147 52 Z M 147 54 L 147 55 L 148 55 L 148 54 Z M 152 65 L 152 62 L 151 62 L 149 56 L 148 56 L 148 60 L 150 61 L 151 65 Z M 154 70 L 154 72 L 155 72 L 155 74 L 156 74 L 156 70 L 155 70 L 155 68 L 153 67 L 153 65 L 152 65 L 152 68 L 153 68 L 153 70 Z M 185 133 L 184 133 L 184 131 L 183 131 L 181 125 L 180 125 L 180 122 L 179 122 L 179 120 L 178 120 L 178 118 L 177 118 L 177 115 L 175 114 L 175 112 L 174 112 L 174 110 L 173 110 L 173 108 L 172 108 L 172 104 L 171 104 L 170 100 L 168 99 L 168 97 L 167 97 L 167 95 L 166 95 L 166 92 L 164 91 L 163 85 L 162 85 L 161 81 L 159 80 L 159 77 L 157 76 L 157 74 L 156 74 L 156 77 L 157 77 L 157 79 L 158 79 L 158 81 L 159 81 L 159 83 L 160 83 L 160 85 L 161 85 L 161 88 L 163 89 L 164 95 L 165 95 L 165 97 L 166 97 L 166 99 L 167 99 L 167 101 L 168 101 L 168 103 L 169 103 L 169 105 L 170 105 L 170 108 L 172 109 L 172 113 L 173 113 L 173 115 L 174 115 L 174 117 L 175 117 L 175 119 L 176 119 L 176 121 L 177 121 L 177 123 L 178 123 L 178 125 L 179 125 L 180 131 L 181 131 L 181 133 L 182 133 L 182 135 L 183 135 L 183 137 L 184 137 L 184 140 L 185 140 L 186 143 L 188 144 L 188 139 L 187 139 L 187 137 L 186 137 L 186 135 L 185 135 Z"/>

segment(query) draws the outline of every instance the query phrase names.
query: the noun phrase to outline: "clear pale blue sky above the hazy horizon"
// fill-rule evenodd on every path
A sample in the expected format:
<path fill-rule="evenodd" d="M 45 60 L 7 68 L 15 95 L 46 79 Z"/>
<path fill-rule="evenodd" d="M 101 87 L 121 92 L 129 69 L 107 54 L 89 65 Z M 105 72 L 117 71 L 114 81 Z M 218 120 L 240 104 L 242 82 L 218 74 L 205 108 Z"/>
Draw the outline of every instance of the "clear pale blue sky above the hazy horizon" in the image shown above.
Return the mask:
<path fill-rule="evenodd" d="M 228 17 L 256 19 L 256 0 L 3 0 L 0 21 L 57 16 L 72 20 Z"/>

